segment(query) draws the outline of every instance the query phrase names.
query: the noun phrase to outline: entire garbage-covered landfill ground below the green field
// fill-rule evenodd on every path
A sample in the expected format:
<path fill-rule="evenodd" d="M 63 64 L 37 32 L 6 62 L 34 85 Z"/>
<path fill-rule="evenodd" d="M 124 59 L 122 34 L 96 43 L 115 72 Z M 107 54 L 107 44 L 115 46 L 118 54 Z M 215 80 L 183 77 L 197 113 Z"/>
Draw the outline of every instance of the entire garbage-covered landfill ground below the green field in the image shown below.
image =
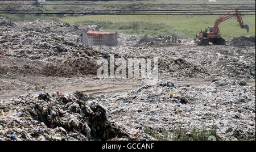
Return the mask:
<path fill-rule="evenodd" d="M 255 140 L 255 35 L 198 45 L 107 33 L 114 43 L 89 45 L 82 31 L 108 32 L 0 18 L 0 140 L 175 140 L 193 129 Z M 158 81 L 98 78 L 97 60 L 110 54 L 158 58 Z"/>

